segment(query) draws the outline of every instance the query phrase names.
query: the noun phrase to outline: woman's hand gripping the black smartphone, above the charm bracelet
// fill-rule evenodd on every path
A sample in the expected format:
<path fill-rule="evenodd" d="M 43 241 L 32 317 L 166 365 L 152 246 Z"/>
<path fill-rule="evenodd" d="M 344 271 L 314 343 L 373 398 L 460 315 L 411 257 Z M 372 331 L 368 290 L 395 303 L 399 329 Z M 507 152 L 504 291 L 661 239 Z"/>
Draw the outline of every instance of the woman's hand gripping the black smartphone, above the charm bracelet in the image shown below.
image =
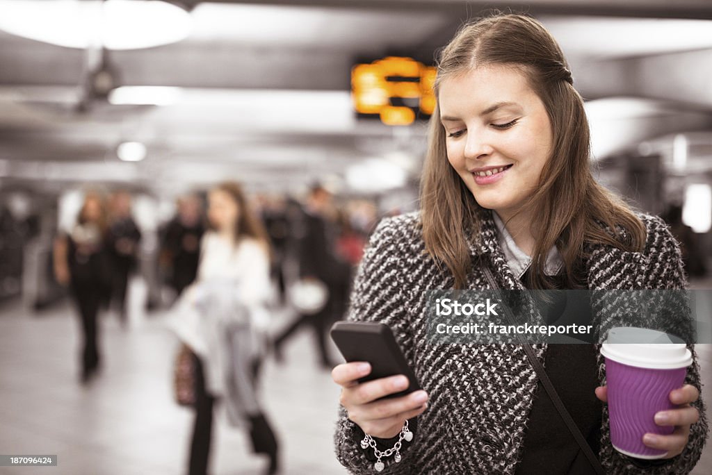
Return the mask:
<path fill-rule="evenodd" d="M 343 363 L 331 372 L 331 377 L 341 386 L 340 403 L 350 420 L 372 437 L 395 437 L 406 420 L 422 414 L 427 407 L 428 395 L 424 390 L 379 400 L 408 387 L 404 375 L 379 378 L 366 383 L 358 380 L 371 372 L 371 365 L 363 362 Z"/>

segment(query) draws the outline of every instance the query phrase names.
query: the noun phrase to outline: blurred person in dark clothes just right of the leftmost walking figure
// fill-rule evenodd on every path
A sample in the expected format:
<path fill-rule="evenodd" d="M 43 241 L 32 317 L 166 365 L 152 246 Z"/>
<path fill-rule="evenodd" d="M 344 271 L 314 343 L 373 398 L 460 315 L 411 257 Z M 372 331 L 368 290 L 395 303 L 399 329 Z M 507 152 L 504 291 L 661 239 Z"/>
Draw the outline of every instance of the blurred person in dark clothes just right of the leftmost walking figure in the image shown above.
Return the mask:
<path fill-rule="evenodd" d="M 108 240 L 113 261 L 111 299 L 117 305 L 121 324 L 126 326 L 126 291 L 129 276 L 138 260 L 141 231 L 131 215 L 131 195 L 116 191 L 110 198 Z"/>

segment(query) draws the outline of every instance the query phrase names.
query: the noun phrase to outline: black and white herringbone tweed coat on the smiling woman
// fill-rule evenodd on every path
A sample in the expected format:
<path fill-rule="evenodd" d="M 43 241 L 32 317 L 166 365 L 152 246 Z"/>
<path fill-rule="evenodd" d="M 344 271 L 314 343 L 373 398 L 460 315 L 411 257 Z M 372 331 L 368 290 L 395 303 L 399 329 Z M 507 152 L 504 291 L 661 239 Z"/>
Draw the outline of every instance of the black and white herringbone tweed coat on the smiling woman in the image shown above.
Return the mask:
<path fill-rule="evenodd" d="M 684 289 L 686 278 L 678 243 L 660 218 L 639 218 L 647 230 L 644 252 L 625 252 L 604 245 L 592 247 L 587 262 L 589 289 Z M 523 288 L 506 263 L 488 213 L 479 237 L 473 238 L 469 247 L 472 257 L 483 257 L 488 262 L 502 289 Z M 387 324 L 429 393 L 429 406 L 417 417 L 414 439 L 403 443 L 402 461 L 383 459 L 386 466 L 382 474 L 513 474 L 523 455 L 525 429 L 538 382 L 523 349 L 512 344 L 434 344 L 425 334 L 426 289 L 449 289 L 453 283 L 451 274 L 424 254 L 419 213 L 386 218 L 379 223 L 357 272 L 348 319 Z M 474 266 L 468 275 L 468 289 L 488 288 L 482 269 Z M 607 313 L 610 309 L 602 309 L 604 305 L 592 301 L 599 331 L 606 332 L 614 326 L 615 319 Z M 534 348 L 544 362 L 547 345 L 537 344 Z M 697 356 L 693 346 L 689 348 L 694 361 L 686 383 L 701 389 Z M 597 361 L 603 385 L 605 363 L 600 354 Z M 663 466 L 648 469 L 637 467 L 613 449 L 608 410 L 603 405 L 598 457 L 607 473 L 689 473 L 708 437 L 702 398 L 693 405 L 701 417 L 691 426 L 684 452 Z M 352 474 L 375 474 L 373 461 L 367 460 L 359 445 L 360 434 L 340 407 L 335 431 L 337 459 Z"/>

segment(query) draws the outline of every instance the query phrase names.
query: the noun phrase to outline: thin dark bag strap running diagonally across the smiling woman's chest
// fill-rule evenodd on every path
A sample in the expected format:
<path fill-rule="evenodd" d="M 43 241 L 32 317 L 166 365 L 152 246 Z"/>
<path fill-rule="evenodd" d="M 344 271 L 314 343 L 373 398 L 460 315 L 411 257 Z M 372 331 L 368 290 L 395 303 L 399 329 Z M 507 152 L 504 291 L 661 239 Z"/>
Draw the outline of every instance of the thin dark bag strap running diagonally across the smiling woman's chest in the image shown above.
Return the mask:
<path fill-rule="evenodd" d="M 499 288 L 494 279 L 494 276 L 492 275 L 491 270 L 486 265 L 483 265 L 483 270 L 485 273 L 485 277 L 487 278 L 487 281 L 490 284 L 490 287 L 492 287 L 495 292 L 499 292 Z M 504 309 L 504 314 L 509 321 L 509 324 L 514 324 L 511 309 L 504 304 L 502 306 Z M 576 422 L 574 422 L 573 417 L 571 417 L 571 414 L 566 409 L 566 406 L 561 400 L 559 393 L 556 392 L 556 388 L 554 388 L 553 383 L 549 379 L 549 375 L 546 373 L 544 366 L 541 364 L 541 361 L 539 361 L 539 358 L 537 358 L 537 356 L 535 355 L 532 346 L 529 343 L 522 341 L 519 333 L 516 333 L 516 335 L 520 341 L 521 346 L 524 348 L 525 353 L 527 353 L 529 362 L 533 366 L 539 377 L 539 380 L 541 381 L 542 385 L 544 386 L 544 389 L 549 395 L 551 402 L 553 402 L 554 407 L 556 407 L 557 412 L 559 412 L 559 415 L 561 416 L 566 426 L 569 428 L 569 431 L 571 432 L 574 439 L 576 439 L 576 442 L 578 442 L 583 454 L 586 456 L 597 475 L 606 475 L 606 471 L 603 469 L 601 462 L 598 460 L 598 457 L 596 457 L 596 454 L 593 453 L 591 446 L 588 444 L 588 442 L 586 442 L 586 438 L 583 436 L 581 430 L 576 425 Z"/>

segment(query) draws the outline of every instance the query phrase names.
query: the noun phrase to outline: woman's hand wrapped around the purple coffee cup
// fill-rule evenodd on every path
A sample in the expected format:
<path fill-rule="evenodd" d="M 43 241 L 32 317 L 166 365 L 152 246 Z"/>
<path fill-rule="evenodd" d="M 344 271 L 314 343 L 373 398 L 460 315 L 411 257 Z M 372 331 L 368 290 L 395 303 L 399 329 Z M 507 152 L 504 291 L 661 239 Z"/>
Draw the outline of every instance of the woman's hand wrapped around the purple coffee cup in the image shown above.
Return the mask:
<path fill-rule="evenodd" d="M 596 397 L 608 402 L 606 386 L 596 388 Z M 646 446 L 668 451 L 664 459 L 671 459 L 682 453 L 690 438 L 690 426 L 700 419 L 700 412 L 690 405 L 700 397 L 700 392 L 693 385 L 686 384 L 682 388 L 671 390 L 669 397 L 670 402 L 678 407 L 657 412 L 655 423 L 660 426 L 675 426 L 675 430 L 670 435 L 647 433 L 643 436 Z"/>

